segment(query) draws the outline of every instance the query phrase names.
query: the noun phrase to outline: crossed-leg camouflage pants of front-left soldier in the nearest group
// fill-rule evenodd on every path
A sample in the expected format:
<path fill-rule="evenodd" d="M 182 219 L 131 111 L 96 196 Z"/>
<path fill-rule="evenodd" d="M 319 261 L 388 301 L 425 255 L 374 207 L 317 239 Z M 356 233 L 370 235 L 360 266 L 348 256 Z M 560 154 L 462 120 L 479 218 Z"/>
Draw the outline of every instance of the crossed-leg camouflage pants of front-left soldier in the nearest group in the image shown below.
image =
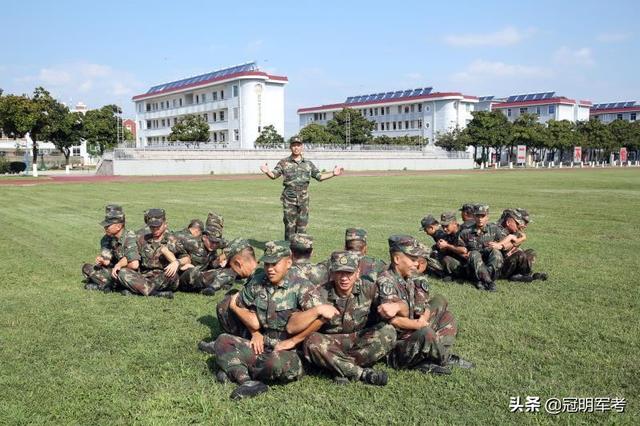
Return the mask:
<path fill-rule="evenodd" d="M 302 376 L 302 361 L 295 351 L 273 351 L 267 348 L 256 355 L 249 340 L 221 334 L 213 345 L 218 367 L 231 380 L 242 383 L 251 377 L 268 382 L 291 382 Z"/>

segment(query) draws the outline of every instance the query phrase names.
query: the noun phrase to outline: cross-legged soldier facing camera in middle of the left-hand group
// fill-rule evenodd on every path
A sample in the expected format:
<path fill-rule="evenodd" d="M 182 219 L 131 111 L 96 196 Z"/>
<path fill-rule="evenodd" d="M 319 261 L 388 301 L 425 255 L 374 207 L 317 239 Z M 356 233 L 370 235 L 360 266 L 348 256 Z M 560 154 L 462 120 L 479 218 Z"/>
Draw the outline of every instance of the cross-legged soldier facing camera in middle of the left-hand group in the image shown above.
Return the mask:
<path fill-rule="evenodd" d="M 172 299 L 173 292 L 178 288 L 180 265 L 176 258 L 176 253 L 180 256 L 176 237 L 167 230 L 164 209 L 149 209 L 146 215 L 149 233 L 138 235 L 137 241 L 140 261 L 132 262 L 137 264 L 132 269 L 120 270 L 118 278 L 128 289 L 123 294 L 136 293 Z"/>

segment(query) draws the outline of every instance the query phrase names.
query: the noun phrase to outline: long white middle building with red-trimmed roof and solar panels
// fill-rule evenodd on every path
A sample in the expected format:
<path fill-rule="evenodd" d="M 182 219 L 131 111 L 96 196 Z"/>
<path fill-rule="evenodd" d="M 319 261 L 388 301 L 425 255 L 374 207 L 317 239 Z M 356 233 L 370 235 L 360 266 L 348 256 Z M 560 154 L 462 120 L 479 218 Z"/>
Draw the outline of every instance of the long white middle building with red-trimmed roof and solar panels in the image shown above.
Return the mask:
<path fill-rule="evenodd" d="M 300 128 L 326 124 L 343 108 L 354 109 L 375 123 L 374 136 L 421 136 L 435 142 L 438 132 L 464 128 L 478 102 L 459 92 L 432 92 L 431 87 L 349 96 L 344 102 L 298 109 Z"/>

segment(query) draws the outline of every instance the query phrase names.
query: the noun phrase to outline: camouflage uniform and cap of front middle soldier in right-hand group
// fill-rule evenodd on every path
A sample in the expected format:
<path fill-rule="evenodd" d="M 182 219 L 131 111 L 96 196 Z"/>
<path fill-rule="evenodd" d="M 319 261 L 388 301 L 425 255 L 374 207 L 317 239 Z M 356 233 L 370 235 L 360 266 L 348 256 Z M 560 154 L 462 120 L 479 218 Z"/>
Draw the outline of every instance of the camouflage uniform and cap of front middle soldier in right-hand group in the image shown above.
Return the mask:
<path fill-rule="evenodd" d="M 488 214 L 489 206 L 476 205 L 476 214 Z M 492 282 L 498 278 L 503 264 L 502 252 L 492 249 L 487 244 L 500 241 L 505 237 L 504 230 L 495 223 L 488 223 L 484 229 L 475 224 L 460 232 L 458 246 L 464 246 L 469 251 L 469 274 L 477 281 Z"/>

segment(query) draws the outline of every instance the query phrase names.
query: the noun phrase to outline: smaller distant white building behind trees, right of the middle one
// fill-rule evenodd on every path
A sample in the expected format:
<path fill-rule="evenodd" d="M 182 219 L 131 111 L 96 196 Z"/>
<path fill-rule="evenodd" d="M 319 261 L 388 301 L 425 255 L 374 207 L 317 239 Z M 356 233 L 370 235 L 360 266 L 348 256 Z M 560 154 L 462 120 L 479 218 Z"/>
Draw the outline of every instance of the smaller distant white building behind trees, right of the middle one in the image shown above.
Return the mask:
<path fill-rule="evenodd" d="M 576 101 L 555 92 L 528 93 L 512 95 L 507 98 L 482 96 L 479 98 L 478 111 L 501 111 L 513 122 L 521 114 L 537 114 L 540 123 L 548 120 L 569 120 L 571 122 L 589 120 L 591 101 Z"/>

